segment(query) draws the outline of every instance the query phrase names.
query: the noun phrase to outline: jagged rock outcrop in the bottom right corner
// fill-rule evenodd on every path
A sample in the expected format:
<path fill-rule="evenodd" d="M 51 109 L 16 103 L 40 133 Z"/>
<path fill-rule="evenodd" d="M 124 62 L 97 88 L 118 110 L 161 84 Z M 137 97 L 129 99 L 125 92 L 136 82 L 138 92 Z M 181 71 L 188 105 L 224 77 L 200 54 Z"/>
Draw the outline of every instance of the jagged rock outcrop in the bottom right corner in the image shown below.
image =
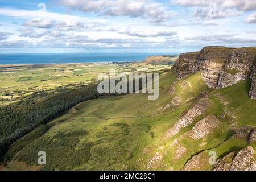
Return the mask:
<path fill-rule="evenodd" d="M 240 150 L 237 154 L 230 152 L 217 160 L 214 171 L 256 171 L 255 151 L 249 146 Z"/>

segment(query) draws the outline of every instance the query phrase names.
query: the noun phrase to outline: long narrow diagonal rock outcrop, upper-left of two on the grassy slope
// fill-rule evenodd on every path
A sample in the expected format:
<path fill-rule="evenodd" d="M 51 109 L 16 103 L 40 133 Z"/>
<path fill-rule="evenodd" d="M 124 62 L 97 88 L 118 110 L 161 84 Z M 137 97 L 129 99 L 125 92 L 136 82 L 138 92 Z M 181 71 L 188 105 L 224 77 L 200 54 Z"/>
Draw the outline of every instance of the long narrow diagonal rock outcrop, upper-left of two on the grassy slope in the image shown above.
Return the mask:
<path fill-rule="evenodd" d="M 173 137 L 181 129 L 184 127 L 187 127 L 188 125 L 191 125 L 191 123 L 194 121 L 194 119 L 203 114 L 205 110 L 208 109 L 210 104 L 209 100 L 202 99 L 195 106 L 192 107 L 186 114 L 184 114 L 178 121 L 174 123 L 174 126 L 171 127 L 167 133 L 166 133 L 166 138 Z"/>

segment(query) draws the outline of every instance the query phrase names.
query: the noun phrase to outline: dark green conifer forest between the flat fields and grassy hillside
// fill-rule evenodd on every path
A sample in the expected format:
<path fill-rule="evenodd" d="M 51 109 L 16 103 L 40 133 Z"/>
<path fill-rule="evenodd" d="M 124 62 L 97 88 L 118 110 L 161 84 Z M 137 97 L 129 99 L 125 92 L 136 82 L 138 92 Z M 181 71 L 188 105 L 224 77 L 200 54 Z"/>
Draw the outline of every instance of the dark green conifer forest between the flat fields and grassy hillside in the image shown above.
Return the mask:
<path fill-rule="evenodd" d="M 101 96 L 97 86 L 59 89 L 58 92 L 36 92 L 22 101 L 0 107 L 0 159 L 11 143 L 36 127 L 67 113 L 73 106 Z"/>

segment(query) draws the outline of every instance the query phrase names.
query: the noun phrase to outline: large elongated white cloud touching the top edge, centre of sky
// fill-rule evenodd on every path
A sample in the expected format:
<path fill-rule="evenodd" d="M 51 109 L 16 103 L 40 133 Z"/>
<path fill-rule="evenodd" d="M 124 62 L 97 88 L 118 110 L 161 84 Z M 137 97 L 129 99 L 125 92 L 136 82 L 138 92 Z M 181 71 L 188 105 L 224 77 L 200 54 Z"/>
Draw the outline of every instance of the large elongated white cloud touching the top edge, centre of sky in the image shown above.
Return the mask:
<path fill-rule="evenodd" d="M 64 6 L 84 12 L 108 16 L 129 16 L 147 19 L 152 23 L 166 22 L 177 14 L 164 3 L 152 0 L 60 0 Z"/>

